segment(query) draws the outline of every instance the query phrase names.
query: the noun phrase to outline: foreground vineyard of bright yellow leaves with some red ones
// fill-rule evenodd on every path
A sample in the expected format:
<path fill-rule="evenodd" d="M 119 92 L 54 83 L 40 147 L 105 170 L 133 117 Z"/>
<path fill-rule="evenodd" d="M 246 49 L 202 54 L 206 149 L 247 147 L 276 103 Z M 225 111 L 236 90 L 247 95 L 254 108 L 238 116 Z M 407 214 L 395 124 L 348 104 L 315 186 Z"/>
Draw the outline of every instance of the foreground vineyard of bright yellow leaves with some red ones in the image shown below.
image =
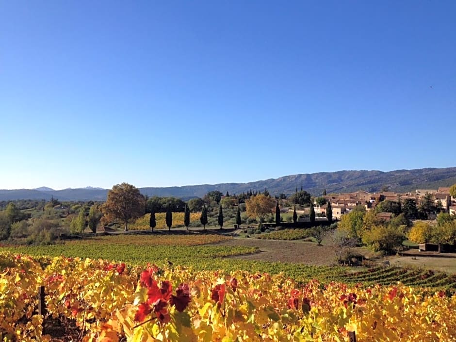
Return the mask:
<path fill-rule="evenodd" d="M 456 296 L 400 284 L 298 283 L 9 252 L 0 253 L 0 275 L 2 341 L 51 341 L 56 326 L 85 342 L 348 341 L 348 331 L 358 341 L 456 339 Z"/>

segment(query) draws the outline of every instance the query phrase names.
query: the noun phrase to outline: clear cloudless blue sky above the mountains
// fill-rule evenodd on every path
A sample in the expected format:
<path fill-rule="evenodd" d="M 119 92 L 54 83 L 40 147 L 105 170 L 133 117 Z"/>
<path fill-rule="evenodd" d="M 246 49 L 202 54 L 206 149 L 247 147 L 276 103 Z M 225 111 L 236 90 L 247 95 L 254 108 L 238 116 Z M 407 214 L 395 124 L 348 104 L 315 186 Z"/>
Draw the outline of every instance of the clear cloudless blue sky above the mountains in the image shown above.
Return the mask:
<path fill-rule="evenodd" d="M 456 1 L 0 1 L 0 189 L 456 166 Z"/>

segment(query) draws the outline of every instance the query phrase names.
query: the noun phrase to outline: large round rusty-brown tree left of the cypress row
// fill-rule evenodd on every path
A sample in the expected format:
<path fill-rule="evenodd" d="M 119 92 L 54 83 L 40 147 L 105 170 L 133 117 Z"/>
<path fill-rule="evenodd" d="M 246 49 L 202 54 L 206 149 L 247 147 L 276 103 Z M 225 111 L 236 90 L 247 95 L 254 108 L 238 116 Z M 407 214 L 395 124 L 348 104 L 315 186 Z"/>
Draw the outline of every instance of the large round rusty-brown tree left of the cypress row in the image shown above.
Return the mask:
<path fill-rule="evenodd" d="M 128 224 L 144 214 L 144 197 L 139 189 L 131 184 L 117 184 L 108 192 L 108 198 L 101 211 L 107 221 L 121 220 L 124 223 L 124 230 L 128 231 Z"/>

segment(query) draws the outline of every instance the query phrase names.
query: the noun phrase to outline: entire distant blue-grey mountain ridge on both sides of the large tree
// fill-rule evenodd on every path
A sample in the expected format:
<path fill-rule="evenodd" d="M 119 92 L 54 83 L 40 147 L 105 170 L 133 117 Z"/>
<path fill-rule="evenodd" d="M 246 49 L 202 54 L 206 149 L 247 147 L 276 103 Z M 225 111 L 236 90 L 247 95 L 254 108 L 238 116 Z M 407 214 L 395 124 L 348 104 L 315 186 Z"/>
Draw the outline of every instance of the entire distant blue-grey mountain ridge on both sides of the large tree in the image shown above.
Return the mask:
<path fill-rule="evenodd" d="M 337 171 L 318 172 L 284 176 L 277 179 L 258 180 L 249 183 L 221 183 L 173 186 L 166 188 L 140 188 L 143 195 L 174 196 L 184 199 L 203 197 L 210 191 L 218 190 L 225 194 L 240 194 L 248 190 L 267 189 L 272 195 L 281 193 L 290 195 L 302 187 L 312 195 L 321 195 L 323 190 L 329 193 L 347 193 L 357 190 L 378 192 L 383 186 L 391 191 L 408 192 L 416 189 L 437 189 L 456 183 L 456 167 L 423 168 L 415 170 L 383 171 Z M 86 187 L 80 189 L 53 190 L 47 187 L 37 189 L 0 190 L 0 200 L 45 199 L 51 197 L 62 201 L 105 201 L 108 190 Z"/>

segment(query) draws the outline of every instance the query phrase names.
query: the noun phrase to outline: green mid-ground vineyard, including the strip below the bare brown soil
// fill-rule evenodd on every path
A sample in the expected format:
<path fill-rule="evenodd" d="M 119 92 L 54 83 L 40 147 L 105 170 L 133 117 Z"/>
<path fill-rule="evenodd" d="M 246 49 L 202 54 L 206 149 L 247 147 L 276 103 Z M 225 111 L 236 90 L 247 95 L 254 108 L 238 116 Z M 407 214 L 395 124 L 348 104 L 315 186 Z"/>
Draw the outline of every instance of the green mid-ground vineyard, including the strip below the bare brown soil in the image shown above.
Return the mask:
<path fill-rule="evenodd" d="M 299 282 L 318 279 L 323 283 L 337 281 L 349 285 L 362 283 L 365 286 L 372 286 L 377 283 L 395 285 L 400 281 L 407 286 L 428 287 L 449 294 L 456 292 L 456 275 L 418 268 L 372 267 L 358 271 L 356 268 L 348 267 L 243 260 L 243 255 L 258 253 L 259 250 L 250 246 L 217 244 L 231 239 L 217 234 L 122 234 L 72 240 L 65 244 L 48 246 L 0 247 L 0 251 L 24 253 L 36 257 L 45 255 L 103 259 L 126 262 L 139 267 L 145 267 L 148 262 L 158 265 L 171 262 L 175 266 L 190 268 L 195 272 L 217 270 L 266 272 L 271 275 L 283 274 Z M 303 244 L 303 248 L 309 247 Z"/>

